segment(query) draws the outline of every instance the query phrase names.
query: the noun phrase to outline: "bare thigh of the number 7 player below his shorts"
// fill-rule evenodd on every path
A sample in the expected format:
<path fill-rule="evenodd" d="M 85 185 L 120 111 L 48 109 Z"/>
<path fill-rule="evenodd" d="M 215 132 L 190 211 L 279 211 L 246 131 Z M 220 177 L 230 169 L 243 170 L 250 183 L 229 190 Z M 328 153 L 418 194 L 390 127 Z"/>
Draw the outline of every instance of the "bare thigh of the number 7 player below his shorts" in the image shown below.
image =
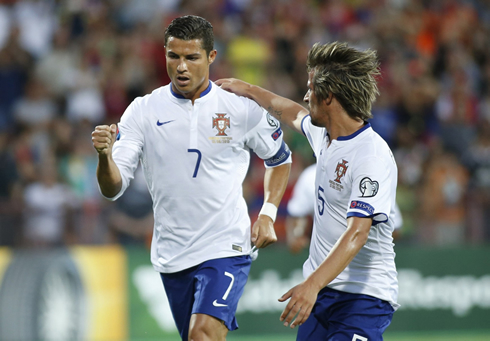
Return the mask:
<path fill-rule="evenodd" d="M 192 314 L 189 324 L 189 339 L 226 340 L 228 328 L 224 322 L 206 314 Z"/>

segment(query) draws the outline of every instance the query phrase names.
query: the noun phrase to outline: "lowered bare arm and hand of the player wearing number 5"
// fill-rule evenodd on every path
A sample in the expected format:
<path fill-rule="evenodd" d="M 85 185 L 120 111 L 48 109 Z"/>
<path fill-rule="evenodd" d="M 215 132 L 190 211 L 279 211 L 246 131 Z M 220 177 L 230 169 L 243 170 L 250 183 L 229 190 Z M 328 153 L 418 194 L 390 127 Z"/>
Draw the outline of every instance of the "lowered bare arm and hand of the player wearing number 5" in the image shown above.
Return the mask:
<path fill-rule="evenodd" d="M 280 320 L 291 328 L 301 325 L 310 316 L 316 302 L 318 292 L 334 280 L 354 259 L 366 244 L 372 219 L 350 217 L 347 219 L 347 229 L 335 243 L 334 247 L 320 266 L 303 283 L 285 293 L 279 301 L 291 298 L 281 314 Z"/>

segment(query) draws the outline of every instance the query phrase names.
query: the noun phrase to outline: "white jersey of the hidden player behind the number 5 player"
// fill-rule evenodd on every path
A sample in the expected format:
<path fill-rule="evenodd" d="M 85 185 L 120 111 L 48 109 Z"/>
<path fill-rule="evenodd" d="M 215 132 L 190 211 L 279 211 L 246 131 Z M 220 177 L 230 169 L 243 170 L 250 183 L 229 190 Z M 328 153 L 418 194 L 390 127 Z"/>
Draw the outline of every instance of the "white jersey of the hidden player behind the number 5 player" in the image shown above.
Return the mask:
<path fill-rule="evenodd" d="M 316 164 L 306 167 L 300 174 L 288 201 L 288 214 L 292 217 L 313 215 L 315 206 Z"/>

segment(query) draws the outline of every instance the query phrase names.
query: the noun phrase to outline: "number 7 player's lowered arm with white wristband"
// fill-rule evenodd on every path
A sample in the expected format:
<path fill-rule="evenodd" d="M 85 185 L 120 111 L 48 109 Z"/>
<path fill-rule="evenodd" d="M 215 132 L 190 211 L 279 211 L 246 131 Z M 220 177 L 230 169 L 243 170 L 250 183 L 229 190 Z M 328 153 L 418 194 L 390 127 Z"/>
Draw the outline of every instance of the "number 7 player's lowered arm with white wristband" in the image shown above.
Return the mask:
<path fill-rule="evenodd" d="M 252 227 L 252 243 L 259 249 L 277 241 L 274 221 L 277 207 L 279 207 L 279 203 L 288 184 L 290 170 L 290 163 L 265 170 L 264 206 Z"/>

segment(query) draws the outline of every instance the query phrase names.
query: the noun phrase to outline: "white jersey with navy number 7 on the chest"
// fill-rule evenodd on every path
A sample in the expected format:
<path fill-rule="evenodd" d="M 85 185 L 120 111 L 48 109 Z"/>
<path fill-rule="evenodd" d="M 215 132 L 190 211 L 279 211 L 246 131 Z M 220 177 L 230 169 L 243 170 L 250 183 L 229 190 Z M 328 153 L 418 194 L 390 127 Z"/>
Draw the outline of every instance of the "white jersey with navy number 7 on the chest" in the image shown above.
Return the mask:
<path fill-rule="evenodd" d="M 113 158 L 122 189 L 111 199 L 122 195 L 141 160 L 153 199 L 151 261 L 157 271 L 250 254 L 242 195 L 250 149 L 266 167 L 291 162 L 276 119 L 209 82 L 194 105 L 171 85 L 137 98 L 118 128 Z"/>

